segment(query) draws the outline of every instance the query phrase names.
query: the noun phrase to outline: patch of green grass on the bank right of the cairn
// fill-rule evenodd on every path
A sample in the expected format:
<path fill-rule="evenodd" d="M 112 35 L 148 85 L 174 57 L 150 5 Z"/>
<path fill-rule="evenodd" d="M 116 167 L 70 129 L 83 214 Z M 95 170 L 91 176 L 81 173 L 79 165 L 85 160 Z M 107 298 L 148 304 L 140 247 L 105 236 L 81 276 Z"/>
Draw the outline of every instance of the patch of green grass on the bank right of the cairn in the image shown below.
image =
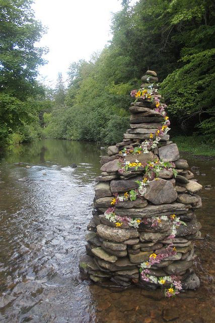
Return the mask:
<path fill-rule="evenodd" d="M 180 151 L 193 155 L 215 156 L 214 143 L 205 142 L 204 136 L 175 136 L 171 140 L 178 145 Z"/>

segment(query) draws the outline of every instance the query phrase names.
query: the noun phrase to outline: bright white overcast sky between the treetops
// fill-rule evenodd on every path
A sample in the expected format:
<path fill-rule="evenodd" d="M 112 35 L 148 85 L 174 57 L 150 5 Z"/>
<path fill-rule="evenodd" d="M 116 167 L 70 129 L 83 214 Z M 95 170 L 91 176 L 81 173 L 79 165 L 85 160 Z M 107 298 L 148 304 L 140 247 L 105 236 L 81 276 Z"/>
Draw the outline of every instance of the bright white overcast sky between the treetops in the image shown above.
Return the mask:
<path fill-rule="evenodd" d="M 39 69 L 45 83 L 51 86 L 57 73 L 70 63 L 89 60 L 111 39 L 111 13 L 121 9 L 119 0 L 35 0 L 35 17 L 48 27 L 40 46 L 49 47 L 44 57 L 48 64 Z M 38 44 L 37 44 L 38 45 Z"/>

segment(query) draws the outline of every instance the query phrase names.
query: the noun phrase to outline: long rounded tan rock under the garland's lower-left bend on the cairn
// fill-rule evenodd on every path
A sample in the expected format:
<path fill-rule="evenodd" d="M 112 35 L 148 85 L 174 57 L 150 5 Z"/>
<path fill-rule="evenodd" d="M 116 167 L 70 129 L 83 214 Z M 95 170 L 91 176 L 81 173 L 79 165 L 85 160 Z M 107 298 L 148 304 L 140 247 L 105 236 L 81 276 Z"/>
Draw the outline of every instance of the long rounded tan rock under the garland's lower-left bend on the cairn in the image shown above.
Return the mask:
<path fill-rule="evenodd" d="M 123 242 L 130 238 L 139 237 L 136 229 L 111 228 L 102 224 L 97 226 L 97 233 L 101 238 L 114 242 Z"/>

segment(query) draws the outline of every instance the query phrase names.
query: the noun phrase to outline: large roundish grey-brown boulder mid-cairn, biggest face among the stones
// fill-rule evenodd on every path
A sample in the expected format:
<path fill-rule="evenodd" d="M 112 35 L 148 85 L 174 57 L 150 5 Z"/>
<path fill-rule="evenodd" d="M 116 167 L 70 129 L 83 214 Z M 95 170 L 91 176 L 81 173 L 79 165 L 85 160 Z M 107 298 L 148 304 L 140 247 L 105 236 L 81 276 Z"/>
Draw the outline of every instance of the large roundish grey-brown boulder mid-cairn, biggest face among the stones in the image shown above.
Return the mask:
<path fill-rule="evenodd" d="M 144 197 L 155 205 L 172 203 L 178 197 L 172 183 L 159 179 L 153 180 L 147 185 Z"/>

